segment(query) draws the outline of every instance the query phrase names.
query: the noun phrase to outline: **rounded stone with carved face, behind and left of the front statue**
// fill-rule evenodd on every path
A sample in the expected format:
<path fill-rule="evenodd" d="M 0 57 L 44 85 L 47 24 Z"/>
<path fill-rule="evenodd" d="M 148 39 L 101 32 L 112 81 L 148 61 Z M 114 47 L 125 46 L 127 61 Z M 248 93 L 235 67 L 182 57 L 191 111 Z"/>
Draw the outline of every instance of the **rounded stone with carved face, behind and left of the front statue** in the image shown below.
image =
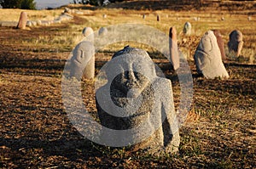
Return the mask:
<path fill-rule="evenodd" d="M 95 48 L 91 42 L 80 42 L 73 49 L 73 57 L 70 60 L 70 76 L 78 80 L 82 76 L 92 79 L 95 76 Z"/>

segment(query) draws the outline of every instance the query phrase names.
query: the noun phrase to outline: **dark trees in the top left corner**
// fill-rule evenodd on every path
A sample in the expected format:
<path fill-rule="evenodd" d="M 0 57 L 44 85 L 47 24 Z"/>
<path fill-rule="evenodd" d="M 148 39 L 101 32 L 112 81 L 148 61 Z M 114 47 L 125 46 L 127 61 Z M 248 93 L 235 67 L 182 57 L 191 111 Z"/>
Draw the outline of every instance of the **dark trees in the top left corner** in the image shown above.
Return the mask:
<path fill-rule="evenodd" d="M 35 9 L 36 3 L 34 0 L 0 0 L 0 5 L 3 8 L 23 8 Z"/>

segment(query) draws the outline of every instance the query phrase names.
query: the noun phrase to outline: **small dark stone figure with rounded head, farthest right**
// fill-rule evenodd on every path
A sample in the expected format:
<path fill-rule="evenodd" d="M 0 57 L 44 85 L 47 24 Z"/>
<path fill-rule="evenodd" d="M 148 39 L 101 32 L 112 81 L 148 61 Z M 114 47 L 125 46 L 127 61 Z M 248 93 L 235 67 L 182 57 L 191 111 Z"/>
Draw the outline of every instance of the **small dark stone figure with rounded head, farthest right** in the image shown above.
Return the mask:
<path fill-rule="evenodd" d="M 234 51 L 236 56 L 241 54 L 241 48 L 243 46 L 242 33 L 241 31 L 235 30 L 230 33 L 230 42 L 228 42 L 228 47 L 230 52 Z"/>

